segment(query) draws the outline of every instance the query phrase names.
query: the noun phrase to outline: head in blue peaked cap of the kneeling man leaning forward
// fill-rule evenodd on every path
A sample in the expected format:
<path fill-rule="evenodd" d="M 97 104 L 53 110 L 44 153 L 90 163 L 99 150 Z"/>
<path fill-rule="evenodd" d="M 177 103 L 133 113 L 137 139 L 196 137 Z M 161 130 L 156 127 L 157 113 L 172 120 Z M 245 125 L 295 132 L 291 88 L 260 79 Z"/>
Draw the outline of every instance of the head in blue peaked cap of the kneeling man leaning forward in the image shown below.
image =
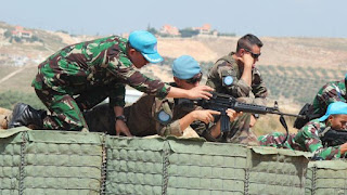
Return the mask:
<path fill-rule="evenodd" d="M 163 57 L 159 55 L 156 49 L 157 40 L 149 31 L 137 30 L 129 35 L 127 44 L 127 53 L 137 68 L 141 68 L 147 63 L 159 63 Z"/>

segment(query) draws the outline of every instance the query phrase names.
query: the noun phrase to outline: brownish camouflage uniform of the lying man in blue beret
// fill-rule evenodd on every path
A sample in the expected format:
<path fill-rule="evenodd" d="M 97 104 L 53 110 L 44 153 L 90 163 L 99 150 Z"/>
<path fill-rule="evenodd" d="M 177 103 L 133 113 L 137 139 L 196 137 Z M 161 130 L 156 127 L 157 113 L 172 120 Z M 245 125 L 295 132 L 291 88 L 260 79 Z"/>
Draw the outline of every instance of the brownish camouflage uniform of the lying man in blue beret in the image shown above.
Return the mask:
<path fill-rule="evenodd" d="M 144 94 L 132 105 L 126 106 L 124 115 L 131 134 L 136 136 L 153 134 L 181 136 L 183 132 L 180 129 L 179 119 L 194 110 L 194 107 L 175 105 L 174 99 L 158 99 Z M 92 110 L 85 112 L 83 115 L 90 131 L 116 134 L 114 112 L 108 104 L 95 106 Z"/>

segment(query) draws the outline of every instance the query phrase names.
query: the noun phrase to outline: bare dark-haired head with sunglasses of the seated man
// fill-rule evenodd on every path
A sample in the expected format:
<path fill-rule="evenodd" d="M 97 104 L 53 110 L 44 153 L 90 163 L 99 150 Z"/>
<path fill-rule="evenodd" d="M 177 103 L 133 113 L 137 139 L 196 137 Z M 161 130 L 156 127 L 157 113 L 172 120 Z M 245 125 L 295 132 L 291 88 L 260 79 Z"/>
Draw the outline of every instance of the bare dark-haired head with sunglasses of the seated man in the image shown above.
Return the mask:
<path fill-rule="evenodd" d="M 236 55 L 242 56 L 244 53 L 249 53 L 250 56 L 254 58 L 255 64 L 260 56 L 260 49 L 262 47 L 262 42 L 260 39 L 252 34 L 247 34 L 241 37 L 237 41 L 236 47 Z"/>

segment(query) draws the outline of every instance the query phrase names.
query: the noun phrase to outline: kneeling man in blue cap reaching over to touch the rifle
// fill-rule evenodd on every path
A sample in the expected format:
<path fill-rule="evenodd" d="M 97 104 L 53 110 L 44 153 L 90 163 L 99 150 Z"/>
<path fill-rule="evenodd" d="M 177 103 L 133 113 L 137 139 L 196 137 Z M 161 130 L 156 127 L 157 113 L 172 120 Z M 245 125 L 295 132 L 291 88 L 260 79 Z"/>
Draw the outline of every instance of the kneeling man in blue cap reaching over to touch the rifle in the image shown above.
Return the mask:
<path fill-rule="evenodd" d="M 157 40 L 147 31 L 133 31 L 129 39 L 111 36 L 68 46 L 38 66 L 33 87 L 49 108 L 44 115 L 28 105 L 18 104 L 9 127 L 35 123 L 42 129 L 88 131 L 81 110 L 92 108 L 110 98 L 116 118 L 124 115 L 125 84 L 158 98 L 208 99 L 213 89 L 206 86 L 182 90 L 151 79 L 134 67 L 159 63 Z M 123 120 L 117 131 L 130 132 Z"/>

